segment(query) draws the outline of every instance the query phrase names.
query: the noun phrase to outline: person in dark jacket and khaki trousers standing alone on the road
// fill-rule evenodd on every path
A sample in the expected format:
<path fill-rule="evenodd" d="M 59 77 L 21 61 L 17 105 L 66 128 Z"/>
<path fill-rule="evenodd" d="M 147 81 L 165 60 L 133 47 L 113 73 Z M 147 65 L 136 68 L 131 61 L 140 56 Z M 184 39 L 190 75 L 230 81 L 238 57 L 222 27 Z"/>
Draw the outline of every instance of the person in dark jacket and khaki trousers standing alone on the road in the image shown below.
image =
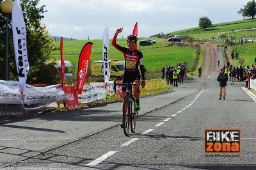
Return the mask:
<path fill-rule="evenodd" d="M 221 97 L 223 97 L 223 99 L 225 100 L 228 75 L 227 73 L 224 73 L 224 68 L 220 68 L 220 73 L 218 75 L 217 81 L 220 85 L 219 100 L 221 100 Z"/>

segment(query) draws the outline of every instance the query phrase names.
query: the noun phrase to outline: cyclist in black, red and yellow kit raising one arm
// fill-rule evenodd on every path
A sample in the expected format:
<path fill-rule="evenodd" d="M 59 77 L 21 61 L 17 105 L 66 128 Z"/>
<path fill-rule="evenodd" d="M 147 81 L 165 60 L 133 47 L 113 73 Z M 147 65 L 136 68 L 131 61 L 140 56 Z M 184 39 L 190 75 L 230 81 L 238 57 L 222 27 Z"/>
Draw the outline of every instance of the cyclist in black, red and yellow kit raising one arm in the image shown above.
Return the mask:
<path fill-rule="evenodd" d="M 119 33 L 123 31 L 122 28 L 119 28 L 116 30 L 115 36 L 112 40 L 112 45 L 115 47 L 115 49 L 120 50 L 124 54 L 125 59 L 125 71 L 124 71 L 124 77 L 123 77 L 123 83 L 129 82 L 129 83 L 140 83 L 140 80 L 142 78 L 142 88 L 145 87 L 145 67 L 143 63 L 143 55 L 142 53 L 136 49 L 136 43 L 137 43 L 137 36 L 136 35 L 129 35 L 127 36 L 127 45 L 129 48 L 121 47 L 120 45 L 116 44 L 116 37 Z M 140 70 L 139 70 L 140 66 Z M 141 72 L 141 75 L 140 75 Z M 138 92 L 138 86 L 133 86 L 134 91 L 134 97 L 135 97 L 135 109 L 140 110 L 140 93 Z M 122 87 L 122 95 L 124 97 L 126 92 L 125 87 Z M 122 123 L 121 123 L 122 127 Z"/>

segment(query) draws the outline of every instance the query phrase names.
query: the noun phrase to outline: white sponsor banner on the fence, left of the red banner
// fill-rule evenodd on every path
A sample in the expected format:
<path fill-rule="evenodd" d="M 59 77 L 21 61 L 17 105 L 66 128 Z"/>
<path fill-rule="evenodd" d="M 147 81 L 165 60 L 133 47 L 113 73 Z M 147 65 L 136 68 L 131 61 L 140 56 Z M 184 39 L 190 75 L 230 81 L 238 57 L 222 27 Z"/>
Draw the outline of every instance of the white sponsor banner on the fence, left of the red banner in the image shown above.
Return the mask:
<path fill-rule="evenodd" d="M 26 84 L 24 95 L 24 104 L 28 105 L 67 100 L 67 96 L 65 95 L 63 88 L 58 85 L 40 88 Z M 19 82 L 0 80 L 0 103 L 22 104 Z"/>

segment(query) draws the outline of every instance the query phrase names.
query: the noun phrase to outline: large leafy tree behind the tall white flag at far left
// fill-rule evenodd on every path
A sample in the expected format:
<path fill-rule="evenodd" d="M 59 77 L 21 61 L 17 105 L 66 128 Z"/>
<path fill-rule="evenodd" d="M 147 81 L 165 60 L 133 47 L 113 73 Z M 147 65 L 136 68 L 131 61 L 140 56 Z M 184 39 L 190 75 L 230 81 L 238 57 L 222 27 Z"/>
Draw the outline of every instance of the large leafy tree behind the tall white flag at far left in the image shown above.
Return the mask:
<path fill-rule="evenodd" d="M 46 27 L 40 23 L 40 20 L 44 18 L 45 5 L 37 7 L 40 0 L 22 0 L 21 7 L 24 15 L 24 21 L 26 25 L 26 38 L 27 38 L 27 50 L 30 72 L 37 70 L 40 63 L 52 57 L 52 50 L 54 48 L 54 42 L 50 36 Z M 0 13 L 0 67 L 4 66 L 5 56 L 5 41 L 6 41 L 6 17 Z M 12 36 L 12 21 L 10 19 L 9 25 L 9 61 L 11 79 L 17 79 L 17 70 L 15 63 L 15 54 L 13 49 L 13 36 Z M 5 71 L 4 71 L 5 72 Z M 4 79 L 0 74 L 0 79 Z M 29 76 L 28 76 L 29 82 Z"/>

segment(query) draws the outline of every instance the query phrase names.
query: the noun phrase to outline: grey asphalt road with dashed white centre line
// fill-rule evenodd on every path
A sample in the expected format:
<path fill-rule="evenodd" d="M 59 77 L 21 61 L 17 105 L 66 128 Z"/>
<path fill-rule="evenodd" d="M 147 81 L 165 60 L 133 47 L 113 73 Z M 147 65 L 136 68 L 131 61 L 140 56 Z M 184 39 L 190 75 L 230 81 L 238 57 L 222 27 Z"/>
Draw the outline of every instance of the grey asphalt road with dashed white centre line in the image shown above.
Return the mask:
<path fill-rule="evenodd" d="M 222 53 L 215 53 L 216 61 L 224 62 Z M 201 79 L 141 98 L 136 134 L 130 137 L 119 126 L 121 102 L 1 121 L 0 167 L 256 169 L 255 102 L 241 88 L 245 82 L 228 84 L 226 100 L 218 100 L 217 76 L 206 48 Z M 205 129 L 241 130 L 241 153 L 205 153 Z"/>

